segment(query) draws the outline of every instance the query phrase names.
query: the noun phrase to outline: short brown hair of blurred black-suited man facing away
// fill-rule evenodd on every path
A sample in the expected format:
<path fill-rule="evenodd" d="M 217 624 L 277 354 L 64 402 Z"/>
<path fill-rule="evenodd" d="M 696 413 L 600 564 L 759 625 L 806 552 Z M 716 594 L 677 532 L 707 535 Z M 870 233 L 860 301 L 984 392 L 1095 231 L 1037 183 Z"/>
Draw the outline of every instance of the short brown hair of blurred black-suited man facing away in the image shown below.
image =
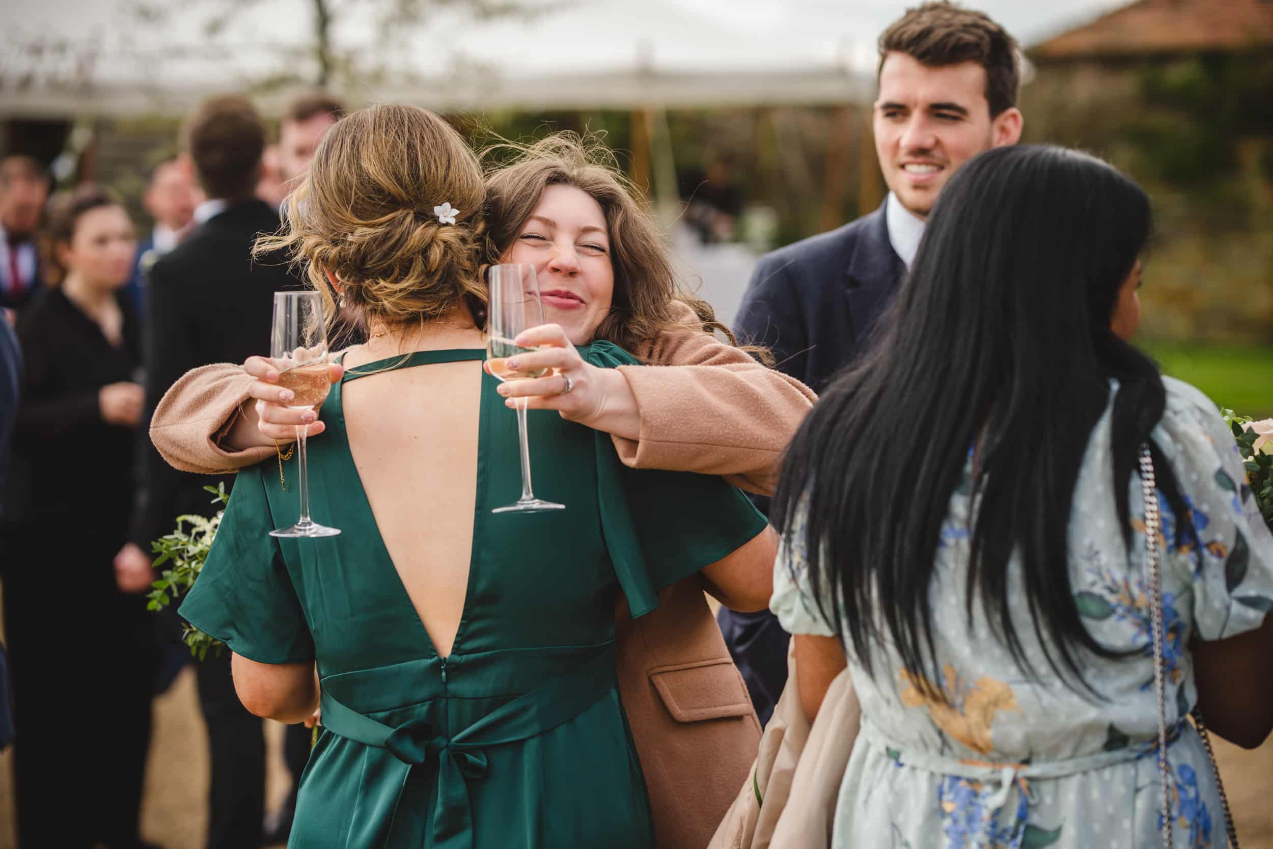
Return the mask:
<path fill-rule="evenodd" d="M 265 125 L 251 101 L 238 94 L 204 101 L 186 121 L 182 141 L 210 199 L 252 196 L 265 150 Z"/>

